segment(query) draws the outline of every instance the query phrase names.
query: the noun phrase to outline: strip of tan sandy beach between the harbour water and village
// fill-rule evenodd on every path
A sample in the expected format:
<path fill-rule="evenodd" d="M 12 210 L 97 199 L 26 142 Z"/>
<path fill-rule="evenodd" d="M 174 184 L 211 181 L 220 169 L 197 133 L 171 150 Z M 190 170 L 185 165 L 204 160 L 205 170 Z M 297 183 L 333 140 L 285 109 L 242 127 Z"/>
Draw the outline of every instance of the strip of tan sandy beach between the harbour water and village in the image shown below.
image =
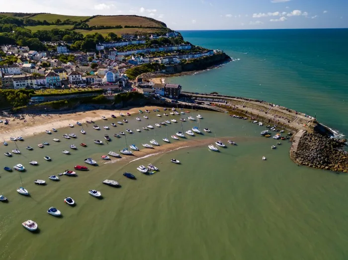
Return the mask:
<path fill-rule="evenodd" d="M 125 108 L 122 110 L 90 110 L 90 111 L 82 111 L 82 112 L 71 112 L 71 113 L 62 113 L 62 114 L 22 114 L 24 119 L 12 117 L 0 117 L 0 120 L 4 121 L 8 119 L 9 122 L 7 125 L 4 123 L 0 123 L 0 140 L 6 140 L 13 136 L 22 136 L 28 137 L 33 136 L 38 133 L 45 132 L 45 130 L 51 130 L 52 128 L 63 128 L 67 127 L 69 124 L 73 124 L 76 126 L 76 122 L 80 121 L 82 123 L 87 120 L 100 120 L 101 116 L 105 116 L 106 118 L 111 118 L 111 115 L 114 114 L 116 117 L 120 117 L 119 112 L 126 114 L 129 112 L 130 114 L 138 113 L 138 110 L 145 109 L 155 109 L 158 107 L 155 106 L 146 106 L 146 107 L 133 107 L 133 108 Z"/>

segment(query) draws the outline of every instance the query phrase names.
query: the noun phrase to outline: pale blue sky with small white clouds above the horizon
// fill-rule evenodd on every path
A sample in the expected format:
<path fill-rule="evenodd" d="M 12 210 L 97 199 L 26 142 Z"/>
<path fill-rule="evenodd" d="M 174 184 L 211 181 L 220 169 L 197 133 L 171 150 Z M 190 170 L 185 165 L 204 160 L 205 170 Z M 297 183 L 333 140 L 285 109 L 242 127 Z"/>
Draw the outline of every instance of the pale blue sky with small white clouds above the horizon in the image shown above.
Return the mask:
<path fill-rule="evenodd" d="M 174 30 L 348 27 L 348 0 L 0 0 L 0 11 L 136 14 Z"/>

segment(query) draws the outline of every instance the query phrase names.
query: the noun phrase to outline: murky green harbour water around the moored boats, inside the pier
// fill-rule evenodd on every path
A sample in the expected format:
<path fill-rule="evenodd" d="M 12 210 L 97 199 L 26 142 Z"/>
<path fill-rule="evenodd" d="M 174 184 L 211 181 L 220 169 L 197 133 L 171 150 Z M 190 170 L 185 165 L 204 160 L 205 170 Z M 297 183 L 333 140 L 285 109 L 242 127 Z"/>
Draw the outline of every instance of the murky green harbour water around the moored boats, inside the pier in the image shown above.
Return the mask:
<path fill-rule="evenodd" d="M 201 128 L 209 127 L 212 133 L 187 138 L 189 144 L 198 146 L 178 149 L 185 145 L 176 141 L 171 152 L 150 157 L 140 153 L 133 158 L 139 160 L 131 163 L 104 164 L 99 158 L 125 146 L 124 137 L 112 137 L 116 130 L 137 128 L 145 122 L 154 125 L 163 117 L 161 120 L 152 112 L 151 118 L 140 124 L 132 116 L 128 124 L 109 131 L 96 131 L 88 125 L 86 136 L 75 127 L 18 141 L 21 155 L 1 157 L 2 166 L 21 163 L 27 169 L 25 173 L 0 170 L 0 193 L 9 199 L 0 203 L 1 259 L 347 259 L 345 175 L 298 167 L 289 159 L 289 142 L 271 150 L 276 141 L 262 138 L 263 128 L 248 120 L 206 111 L 202 115 Z M 118 120 L 96 123 L 102 126 Z M 183 128 L 194 125 L 197 122 L 186 122 Z M 180 128 L 172 123 L 167 129 L 171 135 Z M 72 132 L 78 139 L 62 138 Z M 109 145 L 92 143 L 105 133 L 112 138 Z M 140 147 L 154 134 L 154 130 L 128 134 L 128 145 Z M 215 134 L 223 140 L 233 138 L 238 145 L 220 148 L 220 153 L 199 146 Z M 156 129 L 158 141 L 165 136 L 165 127 Z M 51 141 L 53 138 L 61 142 Z M 51 145 L 39 149 L 37 144 L 45 140 Z M 61 153 L 70 144 L 81 142 L 88 147 L 79 147 L 70 156 Z M 1 145 L 0 153 L 12 150 L 11 145 Z M 34 151 L 25 150 L 27 145 Z M 53 161 L 44 161 L 45 155 Z M 267 161 L 262 161 L 262 156 Z M 78 172 L 77 177 L 61 176 L 59 182 L 47 178 L 84 165 L 87 157 L 97 159 L 99 166 L 89 166 L 90 171 Z M 171 158 L 181 165 L 171 163 Z M 30 160 L 40 165 L 30 166 Z M 136 170 L 149 163 L 160 172 L 145 175 Z M 125 178 L 125 171 L 137 180 Z M 16 192 L 21 185 L 19 175 L 30 197 Z M 37 178 L 48 184 L 35 185 Z M 118 180 L 122 187 L 102 184 L 106 178 Z M 103 199 L 90 196 L 87 191 L 92 188 L 100 190 Z M 76 207 L 64 203 L 66 196 L 75 199 Z M 48 215 L 51 206 L 61 210 L 63 217 Z M 21 227 L 27 219 L 38 223 L 39 233 Z"/>

